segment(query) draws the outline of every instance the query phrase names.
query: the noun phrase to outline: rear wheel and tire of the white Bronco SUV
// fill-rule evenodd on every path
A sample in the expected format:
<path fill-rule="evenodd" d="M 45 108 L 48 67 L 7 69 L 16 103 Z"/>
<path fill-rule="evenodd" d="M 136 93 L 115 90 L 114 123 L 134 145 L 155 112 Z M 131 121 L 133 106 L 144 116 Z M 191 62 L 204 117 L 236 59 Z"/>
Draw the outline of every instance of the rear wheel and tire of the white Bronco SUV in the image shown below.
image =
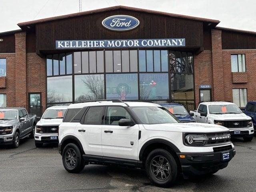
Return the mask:
<path fill-rule="evenodd" d="M 79 173 L 84 169 L 85 163 L 76 144 L 69 143 L 64 147 L 62 163 L 64 168 L 70 173 Z"/>

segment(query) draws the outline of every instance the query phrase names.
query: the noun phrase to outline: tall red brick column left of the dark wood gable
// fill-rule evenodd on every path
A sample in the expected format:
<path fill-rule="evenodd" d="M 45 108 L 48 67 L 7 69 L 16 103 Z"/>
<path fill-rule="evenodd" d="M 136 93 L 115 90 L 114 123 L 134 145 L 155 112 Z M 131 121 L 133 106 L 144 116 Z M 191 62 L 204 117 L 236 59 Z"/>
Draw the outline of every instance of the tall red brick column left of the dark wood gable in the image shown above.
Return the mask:
<path fill-rule="evenodd" d="M 15 34 L 15 105 L 26 103 L 26 32 Z"/>

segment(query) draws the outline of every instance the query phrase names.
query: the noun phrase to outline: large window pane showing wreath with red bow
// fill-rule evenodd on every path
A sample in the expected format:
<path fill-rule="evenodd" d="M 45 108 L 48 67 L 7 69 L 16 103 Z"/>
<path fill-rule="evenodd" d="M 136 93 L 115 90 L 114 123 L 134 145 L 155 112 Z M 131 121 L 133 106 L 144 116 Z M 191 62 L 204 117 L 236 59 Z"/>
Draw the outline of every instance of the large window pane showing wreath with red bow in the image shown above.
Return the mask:
<path fill-rule="evenodd" d="M 138 100 L 138 75 L 106 74 L 106 98 Z"/>

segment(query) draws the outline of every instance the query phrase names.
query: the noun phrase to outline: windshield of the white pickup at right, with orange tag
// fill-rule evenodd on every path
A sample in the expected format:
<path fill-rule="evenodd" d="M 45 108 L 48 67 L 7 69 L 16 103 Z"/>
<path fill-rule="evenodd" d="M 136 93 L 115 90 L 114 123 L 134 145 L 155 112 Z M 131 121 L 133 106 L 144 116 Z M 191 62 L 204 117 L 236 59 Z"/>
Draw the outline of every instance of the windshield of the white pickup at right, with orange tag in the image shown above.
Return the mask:
<path fill-rule="evenodd" d="M 210 114 L 240 114 L 242 113 L 238 106 L 231 105 L 210 105 Z"/>

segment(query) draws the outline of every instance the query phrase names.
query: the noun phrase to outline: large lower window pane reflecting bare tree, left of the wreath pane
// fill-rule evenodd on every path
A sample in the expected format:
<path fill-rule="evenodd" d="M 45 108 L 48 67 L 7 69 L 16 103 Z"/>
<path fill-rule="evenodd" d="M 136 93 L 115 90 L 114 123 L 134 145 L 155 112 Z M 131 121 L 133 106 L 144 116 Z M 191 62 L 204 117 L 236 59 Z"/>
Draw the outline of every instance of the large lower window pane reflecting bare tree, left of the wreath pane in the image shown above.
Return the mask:
<path fill-rule="evenodd" d="M 75 101 L 104 99 L 104 74 L 76 75 Z"/>

